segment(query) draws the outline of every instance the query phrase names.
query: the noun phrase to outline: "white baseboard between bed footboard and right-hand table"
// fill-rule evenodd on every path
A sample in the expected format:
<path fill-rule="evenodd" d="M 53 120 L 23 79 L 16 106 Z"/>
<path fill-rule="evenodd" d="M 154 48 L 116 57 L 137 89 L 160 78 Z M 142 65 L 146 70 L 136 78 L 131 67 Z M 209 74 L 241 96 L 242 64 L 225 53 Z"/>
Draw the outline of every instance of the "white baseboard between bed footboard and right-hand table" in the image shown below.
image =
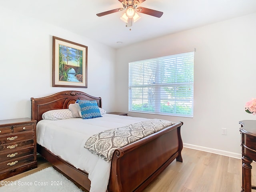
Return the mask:
<path fill-rule="evenodd" d="M 239 153 L 233 153 L 233 152 L 229 152 L 229 151 L 218 150 L 218 149 L 213 149 L 213 148 L 208 148 L 208 147 L 202 147 L 202 146 L 197 146 L 197 145 L 192 145 L 192 144 L 187 144 L 187 143 L 183 143 L 183 146 L 186 148 L 215 153 L 215 154 L 224 155 L 224 156 L 228 156 L 228 157 L 233 157 L 233 158 L 238 158 L 238 159 L 242 158 L 242 154 L 239 154 Z"/>

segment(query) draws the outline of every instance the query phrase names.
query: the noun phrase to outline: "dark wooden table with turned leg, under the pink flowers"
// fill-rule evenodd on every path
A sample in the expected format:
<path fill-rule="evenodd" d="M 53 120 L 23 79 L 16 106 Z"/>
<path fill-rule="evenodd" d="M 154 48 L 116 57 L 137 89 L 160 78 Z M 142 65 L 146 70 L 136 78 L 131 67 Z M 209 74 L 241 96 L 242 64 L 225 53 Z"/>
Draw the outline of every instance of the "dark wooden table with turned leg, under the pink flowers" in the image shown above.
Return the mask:
<path fill-rule="evenodd" d="M 241 146 L 242 146 L 242 190 L 251 192 L 256 189 L 252 186 L 252 161 L 256 161 L 256 120 L 243 120 L 241 124 Z"/>

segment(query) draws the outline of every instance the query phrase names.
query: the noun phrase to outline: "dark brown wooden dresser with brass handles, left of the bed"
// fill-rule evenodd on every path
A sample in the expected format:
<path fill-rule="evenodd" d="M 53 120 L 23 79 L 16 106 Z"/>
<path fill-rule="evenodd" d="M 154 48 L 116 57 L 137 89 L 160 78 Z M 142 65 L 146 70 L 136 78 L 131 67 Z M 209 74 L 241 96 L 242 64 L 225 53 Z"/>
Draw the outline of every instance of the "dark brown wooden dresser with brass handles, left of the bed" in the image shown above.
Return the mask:
<path fill-rule="evenodd" d="M 36 167 L 36 120 L 0 120 L 0 180 Z"/>

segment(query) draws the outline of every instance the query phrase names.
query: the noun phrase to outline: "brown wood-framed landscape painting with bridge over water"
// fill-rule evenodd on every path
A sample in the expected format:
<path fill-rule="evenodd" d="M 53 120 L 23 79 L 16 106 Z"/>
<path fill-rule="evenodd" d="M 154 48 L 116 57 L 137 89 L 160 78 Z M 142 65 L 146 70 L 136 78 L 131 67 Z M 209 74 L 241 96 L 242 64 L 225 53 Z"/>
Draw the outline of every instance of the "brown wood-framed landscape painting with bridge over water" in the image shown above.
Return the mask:
<path fill-rule="evenodd" d="M 52 36 L 52 86 L 87 88 L 87 46 Z"/>

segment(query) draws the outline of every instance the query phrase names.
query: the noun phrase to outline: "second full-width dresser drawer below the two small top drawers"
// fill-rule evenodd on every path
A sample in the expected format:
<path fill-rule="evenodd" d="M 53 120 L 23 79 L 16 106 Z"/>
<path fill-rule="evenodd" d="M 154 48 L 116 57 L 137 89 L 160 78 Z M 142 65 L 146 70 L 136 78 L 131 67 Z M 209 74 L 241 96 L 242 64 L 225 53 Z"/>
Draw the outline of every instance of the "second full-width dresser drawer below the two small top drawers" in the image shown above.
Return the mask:
<path fill-rule="evenodd" d="M 8 153 L 13 150 L 20 150 L 22 148 L 31 147 L 31 146 L 34 146 L 34 139 L 1 145 L 0 156 L 2 156 L 2 153 L 5 153 L 5 152 Z"/>

